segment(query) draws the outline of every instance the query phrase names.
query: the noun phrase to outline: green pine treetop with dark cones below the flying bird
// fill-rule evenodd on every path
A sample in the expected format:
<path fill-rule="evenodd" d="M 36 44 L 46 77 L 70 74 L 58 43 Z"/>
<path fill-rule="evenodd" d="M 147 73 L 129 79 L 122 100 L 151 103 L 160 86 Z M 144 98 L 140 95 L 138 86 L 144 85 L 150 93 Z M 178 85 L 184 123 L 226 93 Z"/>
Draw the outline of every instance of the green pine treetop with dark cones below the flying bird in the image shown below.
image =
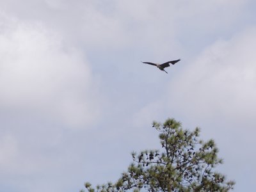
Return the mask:
<path fill-rule="evenodd" d="M 180 122 L 167 119 L 164 124 L 153 122 L 160 132 L 161 150 L 132 152 L 133 163 L 115 183 L 92 188 L 90 191 L 230 191 L 234 181 L 227 181 L 214 168 L 219 159 L 214 140 L 199 140 L 200 129 L 182 129 Z M 82 190 L 83 191 L 83 190 Z"/>

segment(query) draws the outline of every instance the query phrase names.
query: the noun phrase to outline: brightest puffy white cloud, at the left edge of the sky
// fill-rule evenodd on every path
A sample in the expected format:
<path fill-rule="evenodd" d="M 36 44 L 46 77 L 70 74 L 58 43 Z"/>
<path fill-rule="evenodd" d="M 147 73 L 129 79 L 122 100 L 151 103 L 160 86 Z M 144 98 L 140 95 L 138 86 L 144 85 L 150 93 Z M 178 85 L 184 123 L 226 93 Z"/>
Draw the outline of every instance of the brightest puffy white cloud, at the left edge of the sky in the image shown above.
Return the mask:
<path fill-rule="evenodd" d="M 80 51 L 44 26 L 12 22 L 0 33 L 0 106 L 38 113 L 70 127 L 98 115 L 97 82 Z"/>

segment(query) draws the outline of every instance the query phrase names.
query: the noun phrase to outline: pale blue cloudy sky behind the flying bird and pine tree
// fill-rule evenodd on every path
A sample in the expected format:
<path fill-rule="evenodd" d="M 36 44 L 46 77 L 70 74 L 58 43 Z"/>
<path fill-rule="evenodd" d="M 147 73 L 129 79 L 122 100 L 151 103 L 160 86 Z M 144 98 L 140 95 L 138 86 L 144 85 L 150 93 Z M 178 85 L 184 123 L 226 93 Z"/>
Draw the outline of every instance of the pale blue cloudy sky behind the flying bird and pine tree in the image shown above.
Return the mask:
<path fill-rule="evenodd" d="M 115 182 L 175 118 L 255 189 L 253 0 L 0 1 L 0 189 Z M 168 74 L 141 61 L 164 63 Z"/>

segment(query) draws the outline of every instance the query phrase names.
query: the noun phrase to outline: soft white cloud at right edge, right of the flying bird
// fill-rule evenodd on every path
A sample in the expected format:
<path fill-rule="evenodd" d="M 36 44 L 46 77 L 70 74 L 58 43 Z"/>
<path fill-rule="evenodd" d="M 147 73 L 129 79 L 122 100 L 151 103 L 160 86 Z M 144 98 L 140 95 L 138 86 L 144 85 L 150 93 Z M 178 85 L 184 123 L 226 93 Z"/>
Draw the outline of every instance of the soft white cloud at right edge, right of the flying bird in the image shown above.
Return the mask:
<path fill-rule="evenodd" d="M 255 117 L 255 28 L 219 40 L 170 84 L 171 106 L 189 116 Z M 172 102 L 175 100 L 175 102 Z"/>

